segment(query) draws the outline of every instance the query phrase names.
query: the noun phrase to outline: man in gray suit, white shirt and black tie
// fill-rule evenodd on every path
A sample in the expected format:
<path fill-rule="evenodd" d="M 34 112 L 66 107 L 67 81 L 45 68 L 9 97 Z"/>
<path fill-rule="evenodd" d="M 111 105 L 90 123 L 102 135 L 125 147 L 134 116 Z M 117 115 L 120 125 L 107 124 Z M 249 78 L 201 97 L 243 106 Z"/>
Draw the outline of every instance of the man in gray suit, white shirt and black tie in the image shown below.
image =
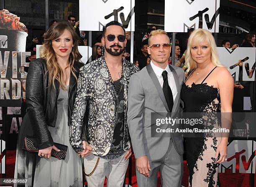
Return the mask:
<path fill-rule="evenodd" d="M 183 175 L 182 136 L 168 137 L 159 133 L 151 136 L 151 113 L 172 112 L 171 118 L 181 114 L 180 90 L 184 71 L 168 65 L 170 39 L 164 30 L 149 35 L 148 54 L 151 63 L 130 78 L 128 89 L 128 128 L 136 158 L 138 187 L 156 187 L 160 171 L 162 187 L 180 187 Z M 164 118 L 164 117 L 163 117 Z M 170 126 L 166 125 L 164 128 Z"/>

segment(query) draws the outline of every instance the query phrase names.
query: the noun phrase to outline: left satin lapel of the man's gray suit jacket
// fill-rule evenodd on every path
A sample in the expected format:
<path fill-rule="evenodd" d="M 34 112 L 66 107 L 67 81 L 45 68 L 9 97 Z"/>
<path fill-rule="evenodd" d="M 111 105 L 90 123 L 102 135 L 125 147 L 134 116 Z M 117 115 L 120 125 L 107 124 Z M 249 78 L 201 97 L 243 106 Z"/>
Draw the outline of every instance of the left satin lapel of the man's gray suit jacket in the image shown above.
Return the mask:
<path fill-rule="evenodd" d="M 164 107 L 165 107 L 166 111 L 170 112 L 170 110 L 168 108 L 168 105 L 167 105 L 167 102 L 166 102 L 165 97 L 164 97 L 163 89 L 162 89 L 162 87 L 161 87 L 161 85 L 160 85 L 160 83 L 158 81 L 158 78 L 156 77 L 156 74 L 155 74 L 151 64 L 148 64 L 148 66 L 146 66 L 146 68 L 147 68 L 149 76 L 151 77 L 154 85 L 156 86 L 156 90 L 159 93 L 159 96 L 160 96 L 160 98 L 161 98 L 161 100 L 162 100 L 162 102 L 164 104 Z"/>

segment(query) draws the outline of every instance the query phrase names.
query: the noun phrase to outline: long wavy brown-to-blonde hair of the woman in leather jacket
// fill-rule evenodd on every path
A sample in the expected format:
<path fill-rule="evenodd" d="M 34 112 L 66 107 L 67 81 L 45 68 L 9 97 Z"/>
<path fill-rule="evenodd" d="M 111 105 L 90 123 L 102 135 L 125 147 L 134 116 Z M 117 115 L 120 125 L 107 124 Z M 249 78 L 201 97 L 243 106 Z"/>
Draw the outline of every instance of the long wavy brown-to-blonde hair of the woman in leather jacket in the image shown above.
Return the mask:
<path fill-rule="evenodd" d="M 57 80 L 59 82 L 61 89 L 63 90 L 66 90 L 65 85 L 63 83 L 64 73 L 61 67 L 59 66 L 59 63 L 57 62 L 56 54 L 52 47 L 51 41 L 55 40 L 56 38 L 59 38 L 59 36 L 62 35 L 65 29 L 67 29 L 71 33 L 72 39 L 73 39 L 74 47 L 72 48 L 72 51 L 69 54 L 68 64 L 70 66 L 70 70 L 73 76 L 77 80 L 77 76 L 74 73 L 74 71 L 76 71 L 76 69 L 74 68 L 74 62 L 75 61 L 79 62 L 80 59 L 82 58 L 82 55 L 79 53 L 78 47 L 77 47 L 79 45 L 80 40 L 77 33 L 75 33 L 75 31 L 69 24 L 55 23 L 51 25 L 51 27 L 46 32 L 46 35 L 44 37 L 44 44 L 40 48 L 40 57 L 46 59 L 47 73 L 49 75 L 48 86 L 51 86 L 51 84 L 53 84 L 55 88 L 54 81 Z"/>

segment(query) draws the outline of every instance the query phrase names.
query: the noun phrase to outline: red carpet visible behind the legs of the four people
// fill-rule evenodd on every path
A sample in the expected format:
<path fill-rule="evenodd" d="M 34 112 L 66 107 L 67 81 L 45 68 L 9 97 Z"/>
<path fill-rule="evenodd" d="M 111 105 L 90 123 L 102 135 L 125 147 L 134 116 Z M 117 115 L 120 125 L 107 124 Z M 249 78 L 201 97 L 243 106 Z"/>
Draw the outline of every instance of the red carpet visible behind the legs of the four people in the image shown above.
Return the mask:
<path fill-rule="evenodd" d="M 6 151 L 6 176 L 5 178 L 13 178 L 14 177 L 14 168 L 15 168 L 15 156 L 16 150 L 7 150 Z M 238 167 L 236 168 L 238 169 Z M 2 178 L 2 175 L 0 174 Z M 225 173 L 219 173 L 219 179 L 222 187 L 250 187 L 249 184 L 250 174 L 231 173 L 228 169 Z M 160 187 L 160 177 L 158 181 L 158 187 Z M 136 172 L 135 172 L 135 159 L 134 155 L 132 157 L 132 187 L 138 187 L 136 180 Z M 126 184 L 128 184 L 128 172 L 126 174 Z M 256 187 L 256 177 L 254 179 L 254 184 Z M 184 163 L 184 176 L 182 185 L 184 187 L 188 187 L 188 169 L 187 165 Z"/>

